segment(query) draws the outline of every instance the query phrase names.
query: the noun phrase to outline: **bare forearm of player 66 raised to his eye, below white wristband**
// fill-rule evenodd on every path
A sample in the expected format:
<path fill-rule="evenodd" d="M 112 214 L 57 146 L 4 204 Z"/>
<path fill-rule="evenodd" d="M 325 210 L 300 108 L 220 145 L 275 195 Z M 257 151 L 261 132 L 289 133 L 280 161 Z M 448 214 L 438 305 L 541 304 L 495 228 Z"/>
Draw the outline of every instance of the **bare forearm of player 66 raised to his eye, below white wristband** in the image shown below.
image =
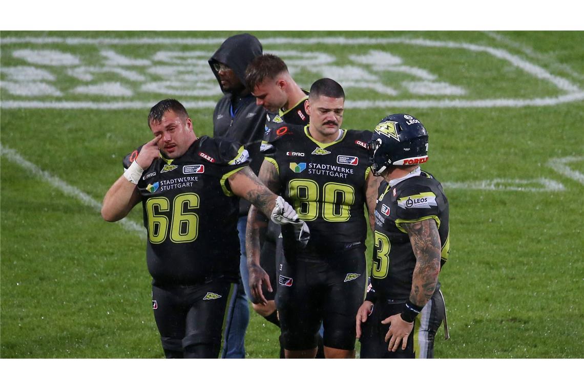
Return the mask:
<path fill-rule="evenodd" d="M 107 222 L 117 222 L 125 218 L 138 202 L 140 193 L 136 185 L 120 176 L 103 198 L 102 218 Z"/>

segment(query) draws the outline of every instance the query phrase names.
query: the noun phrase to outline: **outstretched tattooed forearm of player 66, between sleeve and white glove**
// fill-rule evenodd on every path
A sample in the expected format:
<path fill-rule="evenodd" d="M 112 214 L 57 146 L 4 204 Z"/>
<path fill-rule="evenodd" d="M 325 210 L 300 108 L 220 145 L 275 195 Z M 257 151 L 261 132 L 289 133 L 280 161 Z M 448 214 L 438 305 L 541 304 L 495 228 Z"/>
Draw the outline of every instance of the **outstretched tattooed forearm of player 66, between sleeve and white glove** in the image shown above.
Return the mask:
<path fill-rule="evenodd" d="M 245 198 L 264 215 L 270 215 L 276 205 L 276 195 L 259 180 L 258 176 L 248 166 L 232 174 L 229 178 L 231 190 L 241 198 Z"/>

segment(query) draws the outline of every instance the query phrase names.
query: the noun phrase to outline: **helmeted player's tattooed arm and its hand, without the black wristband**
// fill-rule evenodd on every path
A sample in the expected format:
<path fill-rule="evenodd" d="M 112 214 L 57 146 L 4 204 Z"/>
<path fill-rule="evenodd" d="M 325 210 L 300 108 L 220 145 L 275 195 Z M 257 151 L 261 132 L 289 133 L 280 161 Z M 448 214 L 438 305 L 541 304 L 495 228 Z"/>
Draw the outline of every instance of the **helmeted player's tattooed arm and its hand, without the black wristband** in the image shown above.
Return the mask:
<path fill-rule="evenodd" d="M 416 266 L 413 269 L 412 289 L 409 301 L 418 307 L 426 305 L 436 289 L 438 273 L 440 272 L 440 236 L 438 227 L 433 219 L 422 220 L 416 223 L 402 223 L 408 232 L 412 243 L 413 254 L 416 255 Z M 399 344 L 402 350 L 406 349 L 409 334 L 413 330 L 413 319 L 405 321 L 402 313 L 385 318 L 383 324 L 390 324 L 390 330 L 385 335 L 389 342 L 388 350 L 396 351 Z"/>

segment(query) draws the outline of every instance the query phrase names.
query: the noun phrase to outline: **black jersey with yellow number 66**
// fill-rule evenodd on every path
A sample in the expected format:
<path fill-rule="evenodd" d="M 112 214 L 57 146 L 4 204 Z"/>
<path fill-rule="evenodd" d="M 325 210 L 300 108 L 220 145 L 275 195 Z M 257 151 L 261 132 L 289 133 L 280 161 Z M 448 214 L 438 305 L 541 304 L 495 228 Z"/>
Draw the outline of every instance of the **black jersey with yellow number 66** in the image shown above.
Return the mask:
<path fill-rule="evenodd" d="M 130 166 L 140 148 L 124 158 Z M 239 143 L 202 136 L 175 159 L 161 155 L 137 187 L 148 230 L 148 271 L 157 285 L 239 278 L 239 197 L 228 178 L 248 165 Z"/>

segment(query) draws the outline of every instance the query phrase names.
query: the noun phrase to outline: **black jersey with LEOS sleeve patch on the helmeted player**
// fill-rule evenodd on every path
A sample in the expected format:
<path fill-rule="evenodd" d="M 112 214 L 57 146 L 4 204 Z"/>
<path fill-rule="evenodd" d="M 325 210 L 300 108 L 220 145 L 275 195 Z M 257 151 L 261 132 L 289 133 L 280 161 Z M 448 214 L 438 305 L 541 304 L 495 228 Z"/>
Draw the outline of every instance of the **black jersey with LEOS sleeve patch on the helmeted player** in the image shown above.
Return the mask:
<path fill-rule="evenodd" d="M 402 225 L 425 219 L 436 220 L 443 263 L 450 252 L 448 200 L 442 184 L 425 171 L 420 171 L 420 176 L 399 181 L 393 187 L 383 181 L 379 192 L 375 208 L 371 284 L 378 298 L 405 302 L 412 289 L 416 257 Z"/>

